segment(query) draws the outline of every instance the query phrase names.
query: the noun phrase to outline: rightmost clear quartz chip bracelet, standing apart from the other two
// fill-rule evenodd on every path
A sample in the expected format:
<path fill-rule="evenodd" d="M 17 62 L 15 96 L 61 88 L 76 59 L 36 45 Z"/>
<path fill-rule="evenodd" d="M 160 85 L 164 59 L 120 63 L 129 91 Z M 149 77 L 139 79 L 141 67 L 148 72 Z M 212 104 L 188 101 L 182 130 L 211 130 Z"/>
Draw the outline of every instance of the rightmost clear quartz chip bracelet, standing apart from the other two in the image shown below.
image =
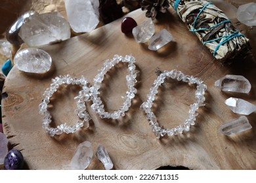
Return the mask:
<path fill-rule="evenodd" d="M 184 121 L 181 125 L 178 125 L 177 127 L 173 127 L 172 129 L 165 129 L 163 127 L 160 127 L 158 124 L 158 120 L 152 112 L 151 108 L 153 105 L 153 102 L 155 100 L 156 94 L 158 93 L 158 87 L 165 82 L 165 78 L 173 78 L 177 79 L 178 81 L 188 82 L 190 84 L 197 84 L 196 86 L 196 92 L 195 92 L 195 98 L 196 102 L 190 105 L 189 110 L 189 118 Z M 177 70 L 171 70 L 171 71 L 163 71 L 156 80 L 154 80 L 154 84 L 150 88 L 150 93 L 147 95 L 147 101 L 142 103 L 140 106 L 140 110 L 143 110 L 146 113 L 146 118 L 149 121 L 150 127 L 152 127 L 152 131 L 155 133 L 156 137 L 160 139 L 160 137 L 165 136 L 166 134 L 168 136 L 172 135 L 179 135 L 183 131 L 189 131 L 190 125 L 194 125 L 196 121 L 196 116 L 198 113 L 196 110 L 198 110 L 199 107 L 203 106 L 203 102 L 205 101 L 205 90 L 207 89 L 207 86 L 203 84 L 203 80 L 200 78 L 194 78 L 194 76 L 188 76 L 184 75 L 181 71 Z"/>

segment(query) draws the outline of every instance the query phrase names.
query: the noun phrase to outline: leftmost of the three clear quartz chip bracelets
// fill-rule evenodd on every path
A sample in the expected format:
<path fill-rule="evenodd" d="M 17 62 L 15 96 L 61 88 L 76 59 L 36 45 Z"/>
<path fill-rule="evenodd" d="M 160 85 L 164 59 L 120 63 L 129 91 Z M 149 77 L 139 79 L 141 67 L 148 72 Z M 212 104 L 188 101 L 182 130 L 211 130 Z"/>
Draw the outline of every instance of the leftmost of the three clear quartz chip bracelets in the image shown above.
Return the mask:
<path fill-rule="evenodd" d="M 58 90 L 60 85 L 62 84 L 75 84 L 82 85 L 83 90 L 79 92 L 79 95 L 75 97 L 75 102 L 77 105 L 77 109 L 75 110 L 75 114 L 80 118 L 75 125 L 67 125 L 60 124 L 56 128 L 50 127 L 51 123 L 51 115 L 47 110 L 48 104 L 50 103 L 50 99 L 54 92 Z M 75 133 L 75 131 L 79 130 L 81 127 L 89 127 L 89 120 L 91 120 L 91 116 L 85 111 L 85 101 L 88 101 L 90 98 L 89 95 L 89 82 L 86 78 L 81 76 L 81 78 L 72 78 L 70 75 L 64 76 L 56 76 L 52 79 L 52 84 L 50 88 L 47 88 L 43 93 L 43 100 L 39 105 L 39 114 L 43 115 L 43 128 L 46 133 L 49 133 L 51 137 L 54 135 L 60 135 L 64 133 Z"/>

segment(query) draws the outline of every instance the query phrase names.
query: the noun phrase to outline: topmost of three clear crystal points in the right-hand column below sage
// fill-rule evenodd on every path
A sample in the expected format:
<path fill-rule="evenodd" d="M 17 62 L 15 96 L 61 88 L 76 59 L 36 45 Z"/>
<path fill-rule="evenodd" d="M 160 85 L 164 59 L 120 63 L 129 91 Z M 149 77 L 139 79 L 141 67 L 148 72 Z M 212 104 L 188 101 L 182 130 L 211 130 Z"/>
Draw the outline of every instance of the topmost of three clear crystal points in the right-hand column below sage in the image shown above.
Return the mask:
<path fill-rule="evenodd" d="M 215 82 L 215 86 L 226 92 L 249 93 L 251 84 L 244 76 L 226 75 Z"/>

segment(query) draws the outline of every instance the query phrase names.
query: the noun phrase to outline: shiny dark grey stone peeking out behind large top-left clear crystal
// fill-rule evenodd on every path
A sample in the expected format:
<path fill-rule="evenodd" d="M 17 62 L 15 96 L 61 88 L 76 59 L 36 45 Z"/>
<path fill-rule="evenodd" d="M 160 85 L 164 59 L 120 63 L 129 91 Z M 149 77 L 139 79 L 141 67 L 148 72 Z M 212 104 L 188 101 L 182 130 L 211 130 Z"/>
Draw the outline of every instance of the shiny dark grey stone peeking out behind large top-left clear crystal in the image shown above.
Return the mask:
<path fill-rule="evenodd" d="M 11 42 L 12 44 L 23 43 L 22 39 L 20 39 L 20 37 L 18 36 L 20 27 L 26 21 L 26 18 L 33 16 L 33 14 L 37 14 L 37 12 L 30 10 L 22 14 L 19 18 L 17 18 L 17 20 L 11 25 L 9 30 L 7 30 L 6 37 L 9 42 Z"/>

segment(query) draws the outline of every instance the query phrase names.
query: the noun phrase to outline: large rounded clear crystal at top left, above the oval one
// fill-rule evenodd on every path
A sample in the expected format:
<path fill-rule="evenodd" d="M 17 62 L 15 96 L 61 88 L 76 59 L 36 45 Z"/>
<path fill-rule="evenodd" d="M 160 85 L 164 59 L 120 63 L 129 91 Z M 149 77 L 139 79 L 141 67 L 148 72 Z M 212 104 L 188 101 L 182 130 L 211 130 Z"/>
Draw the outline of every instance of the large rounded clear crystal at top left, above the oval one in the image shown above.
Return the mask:
<path fill-rule="evenodd" d="M 29 46 L 43 46 L 70 39 L 70 25 L 59 12 L 34 14 L 18 33 Z"/>

